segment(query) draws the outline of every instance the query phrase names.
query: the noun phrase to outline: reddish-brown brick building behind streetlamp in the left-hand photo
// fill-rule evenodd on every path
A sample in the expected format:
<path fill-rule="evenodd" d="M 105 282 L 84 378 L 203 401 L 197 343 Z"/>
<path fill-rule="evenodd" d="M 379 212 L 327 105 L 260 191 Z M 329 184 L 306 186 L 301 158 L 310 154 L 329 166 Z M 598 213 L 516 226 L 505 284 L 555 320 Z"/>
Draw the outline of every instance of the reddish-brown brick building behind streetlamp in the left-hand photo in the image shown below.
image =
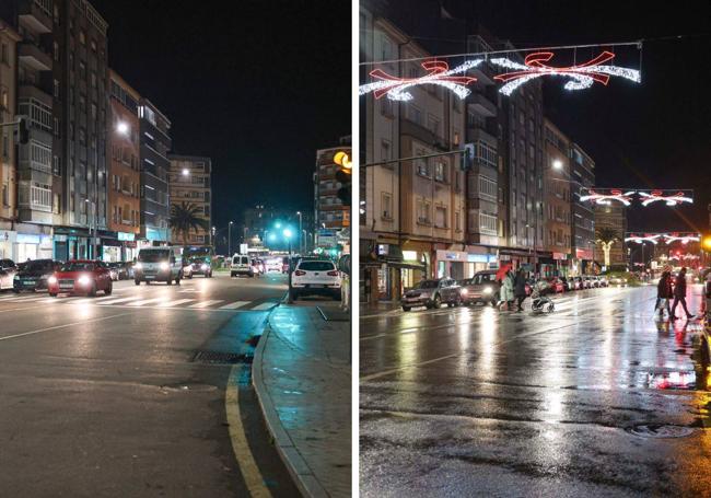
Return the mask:
<path fill-rule="evenodd" d="M 140 95 L 115 71 L 108 77 L 108 229 L 117 239 L 105 242 L 104 259 L 131 260 L 141 221 Z"/>

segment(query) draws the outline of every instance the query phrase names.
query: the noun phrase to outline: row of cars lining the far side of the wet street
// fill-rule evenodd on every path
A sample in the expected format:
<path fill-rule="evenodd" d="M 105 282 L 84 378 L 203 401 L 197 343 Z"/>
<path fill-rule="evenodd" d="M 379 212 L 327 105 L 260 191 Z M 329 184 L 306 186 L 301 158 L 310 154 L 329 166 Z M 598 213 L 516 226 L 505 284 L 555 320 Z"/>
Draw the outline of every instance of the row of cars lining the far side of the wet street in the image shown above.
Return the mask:
<path fill-rule="evenodd" d="M 608 287 L 609 282 L 603 276 L 582 277 L 550 277 L 546 279 L 547 293 L 568 292 L 571 290 L 595 289 Z M 531 296 L 534 281 L 526 282 L 526 296 Z M 500 300 L 501 283 L 497 280 L 497 270 L 482 270 L 464 280 L 452 278 L 428 279 L 420 281 L 403 294 L 400 305 L 403 311 L 424 306 L 427 309 L 448 306 L 496 304 Z"/>

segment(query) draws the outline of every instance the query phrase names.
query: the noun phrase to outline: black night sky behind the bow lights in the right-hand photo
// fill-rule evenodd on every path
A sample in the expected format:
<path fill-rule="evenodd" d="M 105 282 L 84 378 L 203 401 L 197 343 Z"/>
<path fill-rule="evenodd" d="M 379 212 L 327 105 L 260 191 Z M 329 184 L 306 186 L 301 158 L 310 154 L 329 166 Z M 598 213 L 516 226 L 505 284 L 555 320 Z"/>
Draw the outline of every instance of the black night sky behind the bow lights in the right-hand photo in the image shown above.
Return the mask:
<path fill-rule="evenodd" d="M 544 84 L 544 95 L 548 117 L 595 160 L 598 186 L 695 188 L 693 207 L 633 209 L 629 217 L 631 229 L 703 231 L 709 228 L 710 2 L 667 2 L 663 7 L 649 1 L 443 0 L 443 3 L 453 15 L 466 19 L 470 25 L 478 22 L 497 37 L 511 39 L 520 47 L 692 35 L 644 43 L 640 85 L 613 79 L 608 86 L 596 83 L 593 89 L 570 92 L 562 89 L 563 80 L 549 79 Z M 408 15 L 404 10 L 400 9 L 400 15 Z M 441 50 L 462 51 L 461 42 L 452 40 L 447 46 L 446 32 L 438 36 L 442 38 Z M 636 48 L 615 51 L 618 65 L 639 67 Z M 597 51 L 580 50 L 578 61 L 592 55 Z"/>

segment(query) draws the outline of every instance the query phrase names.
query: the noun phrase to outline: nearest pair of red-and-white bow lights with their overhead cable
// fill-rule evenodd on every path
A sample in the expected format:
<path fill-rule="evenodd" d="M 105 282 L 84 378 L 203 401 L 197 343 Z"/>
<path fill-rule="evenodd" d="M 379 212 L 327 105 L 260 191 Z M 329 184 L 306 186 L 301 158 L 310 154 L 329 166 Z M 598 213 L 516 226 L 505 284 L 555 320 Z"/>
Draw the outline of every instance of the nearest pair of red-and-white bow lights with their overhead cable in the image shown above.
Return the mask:
<path fill-rule="evenodd" d="M 382 99 L 387 96 L 392 101 L 410 101 L 412 100 L 412 94 L 407 92 L 407 89 L 434 84 L 443 86 L 451 90 L 454 95 L 458 99 L 466 99 L 466 96 L 471 93 L 471 90 L 467 86 L 476 82 L 477 79 L 474 77 L 466 76 L 454 76 L 454 74 L 464 74 L 468 70 L 477 68 L 482 62 L 488 61 L 492 66 L 500 67 L 503 69 L 514 69 L 512 72 L 504 72 L 502 74 L 494 76 L 494 80 L 501 81 L 504 84 L 499 89 L 499 92 L 504 95 L 511 95 L 516 89 L 523 86 L 525 83 L 533 81 L 543 77 L 563 77 L 569 79 L 563 88 L 569 91 L 584 90 L 591 88 L 595 82 L 607 85 L 610 80 L 610 77 L 623 78 L 636 83 L 642 81 L 641 71 L 638 69 L 623 68 L 618 66 L 605 65 L 615 58 L 615 54 L 609 50 L 603 50 L 596 57 L 583 62 L 574 63 L 572 66 L 561 66 L 556 67 L 548 65 L 551 59 L 555 58 L 556 54 L 550 51 L 551 49 L 578 49 L 586 47 L 615 47 L 615 46 L 625 46 L 625 45 L 636 45 L 640 50 L 640 68 L 641 68 L 641 42 L 633 43 L 619 43 L 619 44 L 597 44 L 597 45 L 567 45 L 559 47 L 547 47 L 544 49 L 510 49 L 510 50 L 497 50 L 497 51 L 487 51 L 478 54 L 457 54 L 457 55 L 447 55 L 447 56 L 438 56 L 436 58 L 411 58 L 411 59 L 396 59 L 396 60 L 383 60 L 374 61 L 369 63 L 393 63 L 393 62 L 404 62 L 404 61 L 421 61 L 422 68 L 426 71 L 429 71 L 427 74 L 417 78 L 400 78 L 398 76 L 389 74 L 384 70 L 377 68 L 369 72 L 370 77 L 377 81 L 372 81 L 359 86 L 359 95 L 365 95 L 368 93 L 373 93 L 375 99 Z M 516 62 L 508 57 L 494 57 L 492 55 L 499 54 L 528 54 L 524 63 Z M 441 59 L 454 58 L 454 57 L 475 57 L 474 59 L 467 60 L 464 63 L 450 69 L 447 62 Z M 434 59 L 434 60 L 433 60 Z"/>

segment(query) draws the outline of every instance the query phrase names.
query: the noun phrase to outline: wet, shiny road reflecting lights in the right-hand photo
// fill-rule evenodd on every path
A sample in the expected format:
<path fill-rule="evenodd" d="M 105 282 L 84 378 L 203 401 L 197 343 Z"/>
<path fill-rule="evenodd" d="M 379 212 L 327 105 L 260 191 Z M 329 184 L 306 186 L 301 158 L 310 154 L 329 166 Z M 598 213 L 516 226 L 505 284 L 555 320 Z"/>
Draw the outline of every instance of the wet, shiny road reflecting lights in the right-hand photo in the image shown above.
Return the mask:
<path fill-rule="evenodd" d="M 363 317 L 362 495 L 711 495 L 701 323 L 658 322 L 654 298 L 610 288 L 558 296 L 551 315 Z M 667 425 L 693 431 L 639 436 Z"/>

